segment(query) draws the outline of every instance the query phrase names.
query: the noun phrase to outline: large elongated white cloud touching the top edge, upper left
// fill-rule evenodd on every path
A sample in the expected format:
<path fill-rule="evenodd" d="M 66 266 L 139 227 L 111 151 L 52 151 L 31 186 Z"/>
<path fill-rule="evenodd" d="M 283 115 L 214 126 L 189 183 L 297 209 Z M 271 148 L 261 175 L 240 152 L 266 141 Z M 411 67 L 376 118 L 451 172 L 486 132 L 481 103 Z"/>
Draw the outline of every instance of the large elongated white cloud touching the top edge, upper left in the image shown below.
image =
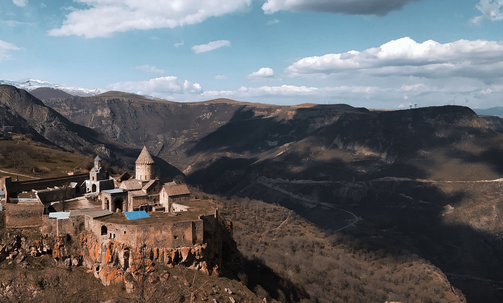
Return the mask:
<path fill-rule="evenodd" d="M 17 0 L 18 1 L 18 0 Z M 50 36 L 110 37 L 116 32 L 175 28 L 246 9 L 251 0 L 78 0 L 90 7 L 66 15 Z"/>

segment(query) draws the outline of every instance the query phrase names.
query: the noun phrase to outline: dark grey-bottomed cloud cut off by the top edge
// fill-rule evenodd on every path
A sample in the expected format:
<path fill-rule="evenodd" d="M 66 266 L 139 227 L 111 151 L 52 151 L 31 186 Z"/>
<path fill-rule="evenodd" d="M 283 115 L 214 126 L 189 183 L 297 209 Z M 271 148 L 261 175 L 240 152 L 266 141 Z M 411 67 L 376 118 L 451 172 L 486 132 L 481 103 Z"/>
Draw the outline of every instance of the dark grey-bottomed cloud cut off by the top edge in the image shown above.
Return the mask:
<path fill-rule="evenodd" d="M 384 16 L 414 1 L 418 0 L 267 0 L 262 10 L 266 14 L 286 10 Z"/>

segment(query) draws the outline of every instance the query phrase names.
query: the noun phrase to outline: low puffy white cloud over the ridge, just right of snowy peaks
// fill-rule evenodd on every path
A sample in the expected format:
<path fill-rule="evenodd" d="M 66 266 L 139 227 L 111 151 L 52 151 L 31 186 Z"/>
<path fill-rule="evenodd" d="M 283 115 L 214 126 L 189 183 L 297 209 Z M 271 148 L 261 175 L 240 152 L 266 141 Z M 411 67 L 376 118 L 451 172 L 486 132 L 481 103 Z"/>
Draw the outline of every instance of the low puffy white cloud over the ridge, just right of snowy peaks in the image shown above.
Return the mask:
<path fill-rule="evenodd" d="M 107 85 L 110 90 L 130 91 L 137 94 L 165 96 L 168 94 L 199 94 L 203 92 L 199 83 L 181 80 L 176 76 L 158 77 L 144 81 L 124 81 Z"/>

